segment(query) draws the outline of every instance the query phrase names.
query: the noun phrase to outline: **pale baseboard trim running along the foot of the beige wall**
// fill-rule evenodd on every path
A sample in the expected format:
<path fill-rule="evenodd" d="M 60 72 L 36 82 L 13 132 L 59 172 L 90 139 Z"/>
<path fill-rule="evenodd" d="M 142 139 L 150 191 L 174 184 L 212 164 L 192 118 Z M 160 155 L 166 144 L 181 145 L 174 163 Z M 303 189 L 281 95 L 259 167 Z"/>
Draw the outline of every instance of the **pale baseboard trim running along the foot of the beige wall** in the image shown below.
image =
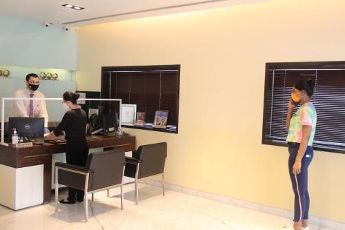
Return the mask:
<path fill-rule="evenodd" d="M 152 179 L 140 179 L 139 182 L 144 183 L 144 184 L 149 184 L 152 186 L 157 186 L 161 187 L 161 181 L 159 180 L 152 180 Z M 224 202 L 226 204 L 233 204 L 239 207 L 244 207 L 246 209 L 253 209 L 256 211 L 262 211 L 264 213 L 269 213 L 273 215 L 279 215 L 284 218 L 289 218 L 293 220 L 293 211 L 286 210 L 286 209 L 279 209 L 276 207 L 269 207 L 264 204 L 256 204 L 253 202 L 248 202 L 246 200 L 239 200 L 236 198 L 229 198 L 224 195 L 217 195 L 213 193 L 207 193 L 204 191 L 199 191 L 197 189 L 190 189 L 184 186 L 179 186 L 176 184 L 169 184 L 165 183 L 165 188 L 172 190 L 172 191 L 177 191 L 180 193 L 186 193 L 188 195 L 195 195 L 200 198 L 206 198 L 209 200 L 215 200 L 218 202 Z M 336 222 L 333 220 L 327 220 L 324 218 L 319 218 L 317 216 L 310 215 L 309 216 L 309 223 L 314 224 L 318 227 L 326 227 L 329 229 L 337 229 L 337 230 L 345 230 L 345 223 L 342 222 Z"/>

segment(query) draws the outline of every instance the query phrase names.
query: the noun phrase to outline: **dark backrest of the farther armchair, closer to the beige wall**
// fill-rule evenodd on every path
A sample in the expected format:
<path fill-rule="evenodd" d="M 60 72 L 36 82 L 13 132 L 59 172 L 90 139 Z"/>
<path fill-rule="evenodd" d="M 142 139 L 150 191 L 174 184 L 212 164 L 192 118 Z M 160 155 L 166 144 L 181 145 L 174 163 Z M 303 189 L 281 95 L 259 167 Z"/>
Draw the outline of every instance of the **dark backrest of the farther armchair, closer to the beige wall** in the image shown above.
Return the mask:
<path fill-rule="evenodd" d="M 132 155 L 142 161 L 139 167 L 138 178 L 146 178 L 150 175 L 163 173 L 166 155 L 166 142 L 139 146 L 137 151 Z"/>

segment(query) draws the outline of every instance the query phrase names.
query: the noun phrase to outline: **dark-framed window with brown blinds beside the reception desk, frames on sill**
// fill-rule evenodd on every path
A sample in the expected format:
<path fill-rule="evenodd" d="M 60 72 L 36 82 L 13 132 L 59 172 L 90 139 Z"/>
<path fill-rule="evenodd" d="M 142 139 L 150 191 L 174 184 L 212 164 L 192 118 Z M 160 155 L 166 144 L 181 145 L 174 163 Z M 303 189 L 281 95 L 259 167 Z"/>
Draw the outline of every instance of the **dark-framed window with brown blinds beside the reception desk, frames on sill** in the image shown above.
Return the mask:
<path fill-rule="evenodd" d="M 102 98 L 122 99 L 122 104 L 135 104 L 137 112 L 145 113 L 144 126 L 125 127 L 178 133 L 179 65 L 102 67 L 101 71 Z M 104 104 L 112 111 L 119 108 L 115 102 Z M 157 110 L 168 111 L 166 128 L 152 128 Z"/>

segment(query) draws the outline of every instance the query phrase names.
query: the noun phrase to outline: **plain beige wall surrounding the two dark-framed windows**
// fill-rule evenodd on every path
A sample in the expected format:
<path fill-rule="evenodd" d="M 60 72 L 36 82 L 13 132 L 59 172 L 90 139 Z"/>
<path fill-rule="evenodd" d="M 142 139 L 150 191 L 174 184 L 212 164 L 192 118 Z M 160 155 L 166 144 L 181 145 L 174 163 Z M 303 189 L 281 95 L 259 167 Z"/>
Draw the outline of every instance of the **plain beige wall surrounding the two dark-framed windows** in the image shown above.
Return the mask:
<path fill-rule="evenodd" d="M 101 66 L 181 64 L 179 134 L 166 182 L 293 209 L 287 149 L 261 144 L 265 63 L 345 59 L 345 1 L 282 0 L 79 28 L 77 87 L 100 90 Z M 345 155 L 316 152 L 311 215 L 345 222 Z"/>

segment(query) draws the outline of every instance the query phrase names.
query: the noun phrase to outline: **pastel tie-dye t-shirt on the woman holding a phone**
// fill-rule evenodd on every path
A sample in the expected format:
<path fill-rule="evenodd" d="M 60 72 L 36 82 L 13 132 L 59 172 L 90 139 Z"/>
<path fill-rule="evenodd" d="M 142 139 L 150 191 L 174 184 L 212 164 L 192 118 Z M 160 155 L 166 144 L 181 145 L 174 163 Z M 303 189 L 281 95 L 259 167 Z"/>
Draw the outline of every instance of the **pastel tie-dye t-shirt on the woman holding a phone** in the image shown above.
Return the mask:
<path fill-rule="evenodd" d="M 304 103 L 295 115 L 291 117 L 286 141 L 301 143 L 302 126 L 311 126 L 311 137 L 309 138 L 308 145 L 313 145 L 316 126 L 316 111 L 311 102 Z"/>

